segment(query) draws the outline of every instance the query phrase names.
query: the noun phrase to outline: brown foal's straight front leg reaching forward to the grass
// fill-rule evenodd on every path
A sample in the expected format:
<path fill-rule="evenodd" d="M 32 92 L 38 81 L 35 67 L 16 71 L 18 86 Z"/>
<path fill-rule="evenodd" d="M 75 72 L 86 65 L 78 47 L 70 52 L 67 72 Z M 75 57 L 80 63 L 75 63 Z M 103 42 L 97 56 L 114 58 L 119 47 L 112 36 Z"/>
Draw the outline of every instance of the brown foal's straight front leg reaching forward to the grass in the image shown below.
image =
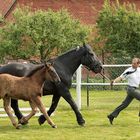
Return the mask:
<path fill-rule="evenodd" d="M 51 120 L 51 118 L 49 117 L 45 106 L 43 105 L 42 101 L 41 101 L 41 97 L 37 96 L 36 98 L 33 99 L 33 101 L 36 103 L 37 107 L 39 108 L 39 110 L 43 113 L 43 115 L 45 116 L 48 124 L 50 124 L 53 128 L 57 128 L 57 126 L 54 124 L 54 122 Z"/>

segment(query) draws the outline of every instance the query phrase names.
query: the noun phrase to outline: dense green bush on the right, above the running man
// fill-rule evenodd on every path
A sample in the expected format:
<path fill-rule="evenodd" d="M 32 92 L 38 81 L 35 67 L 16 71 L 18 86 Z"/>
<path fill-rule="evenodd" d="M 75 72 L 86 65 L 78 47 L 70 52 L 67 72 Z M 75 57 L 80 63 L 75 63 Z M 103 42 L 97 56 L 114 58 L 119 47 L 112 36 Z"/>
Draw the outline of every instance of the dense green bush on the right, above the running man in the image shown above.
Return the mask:
<path fill-rule="evenodd" d="M 140 13 L 134 4 L 111 3 L 106 0 L 97 19 L 98 41 L 103 41 L 105 50 L 113 53 L 128 53 L 131 57 L 140 52 Z"/>

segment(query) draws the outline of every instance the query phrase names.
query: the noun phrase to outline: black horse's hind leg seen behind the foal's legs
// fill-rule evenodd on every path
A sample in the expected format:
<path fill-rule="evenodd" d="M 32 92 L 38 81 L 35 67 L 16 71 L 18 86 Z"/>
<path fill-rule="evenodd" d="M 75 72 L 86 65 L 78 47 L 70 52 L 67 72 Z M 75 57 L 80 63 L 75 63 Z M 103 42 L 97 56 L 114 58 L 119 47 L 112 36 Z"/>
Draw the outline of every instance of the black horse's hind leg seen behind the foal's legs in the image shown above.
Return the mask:
<path fill-rule="evenodd" d="M 18 100 L 11 99 L 11 107 L 13 108 L 14 113 L 15 113 L 16 117 L 18 118 L 18 120 L 20 120 L 23 117 L 23 115 L 22 115 L 22 113 L 19 110 Z M 22 125 L 25 125 L 27 123 L 28 122 L 22 123 Z"/>

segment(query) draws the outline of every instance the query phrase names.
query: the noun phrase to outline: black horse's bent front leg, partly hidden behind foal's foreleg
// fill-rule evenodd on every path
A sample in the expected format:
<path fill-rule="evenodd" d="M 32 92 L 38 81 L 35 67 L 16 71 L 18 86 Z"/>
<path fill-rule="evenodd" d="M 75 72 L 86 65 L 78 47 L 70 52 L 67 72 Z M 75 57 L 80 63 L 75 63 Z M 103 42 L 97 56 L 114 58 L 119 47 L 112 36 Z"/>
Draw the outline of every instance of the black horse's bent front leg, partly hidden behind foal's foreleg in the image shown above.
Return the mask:
<path fill-rule="evenodd" d="M 51 107 L 49 108 L 48 110 L 48 115 L 50 116 L 56 109 L 57 105 L 58 105 L 58 102 L 60 100 L 60 96 L 59 95 L 56 95 L 54 94 L 53 95 L 53 98 L 52 98 L 52 104 L 51 104 Z M 44 117 L 44 115 L 41 115 L 38 119 L 38 123 L 41 125 L 43 124 L 44 122 L 46 121 L 46 118 Z"/>

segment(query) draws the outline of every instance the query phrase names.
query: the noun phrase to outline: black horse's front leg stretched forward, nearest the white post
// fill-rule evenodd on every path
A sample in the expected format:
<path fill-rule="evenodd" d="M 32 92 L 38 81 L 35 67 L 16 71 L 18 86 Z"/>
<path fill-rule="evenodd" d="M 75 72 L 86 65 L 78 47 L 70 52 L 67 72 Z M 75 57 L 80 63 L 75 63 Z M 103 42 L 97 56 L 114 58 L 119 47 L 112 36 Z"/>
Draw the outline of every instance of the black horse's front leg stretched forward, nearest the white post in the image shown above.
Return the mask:
<path fill-rule="evenodd" d="M 83 119 L 80 111 L 78 110 L 78 107 L 77 107 L 75 101 L 73 100 L 73 98 L 69 92 L 69 89 L 63 83 L 56 85 L 56 86 L 57 86 L 57 91 L 58 91 L 59 95 L 62 96 L 70 104 L 71 108 L 75 112 L 78 124 L 84 125 L 85 120 Z"/>

